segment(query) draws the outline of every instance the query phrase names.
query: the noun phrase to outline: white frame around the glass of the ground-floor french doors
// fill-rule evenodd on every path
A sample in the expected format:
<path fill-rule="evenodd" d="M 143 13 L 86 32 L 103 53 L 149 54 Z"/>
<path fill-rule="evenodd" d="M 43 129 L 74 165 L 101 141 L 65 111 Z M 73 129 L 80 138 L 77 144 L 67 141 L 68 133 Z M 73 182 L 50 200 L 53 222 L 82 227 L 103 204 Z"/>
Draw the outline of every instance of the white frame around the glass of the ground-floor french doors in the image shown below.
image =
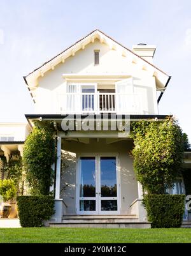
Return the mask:
<path fill-rule="evenodd" d="M 95 209 L 97 211 L 80 211 L 80 157 L 81 156 L 92 156 L 95 157 Z M 99 196 L 99 191 L 101 188 L 99 178 L 100 174 L 100 158 L 102 156 L 113 156 L 116 158 L 116 179 L 117 179 L 117 211 L 100 211 L 99 205 L 101 204 L 101 197 Z M 121 200 L 120 200 L 120 162 L 119 162 L 119 154 L 118 153 L 78 153 L 76 154 L 76 214 L 77 215 L 120 215 L 121 209 Z M 98 187 L 96 187 L 96 184 Z M 88 200 L 91 200 L 91 197 L 88 197 Z M 109 199 L 108 199 L 109 200 Z M 100 212 L 99 212 L 100 211 Z"/>

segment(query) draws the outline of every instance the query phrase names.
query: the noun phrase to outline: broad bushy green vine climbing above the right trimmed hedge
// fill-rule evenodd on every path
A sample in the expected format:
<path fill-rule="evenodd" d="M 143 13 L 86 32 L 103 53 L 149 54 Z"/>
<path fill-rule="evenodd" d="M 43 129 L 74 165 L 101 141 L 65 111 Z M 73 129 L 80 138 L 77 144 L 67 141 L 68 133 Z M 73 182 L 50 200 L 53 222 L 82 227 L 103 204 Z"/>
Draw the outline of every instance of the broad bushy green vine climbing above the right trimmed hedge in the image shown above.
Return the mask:
<path fill-rule="evenodd" d="M 173 186 L 183 163 L 185 139 L 177 121 L 140 121 L 132 124 L 134 170 L 150 194 L 164 194 Z"/>

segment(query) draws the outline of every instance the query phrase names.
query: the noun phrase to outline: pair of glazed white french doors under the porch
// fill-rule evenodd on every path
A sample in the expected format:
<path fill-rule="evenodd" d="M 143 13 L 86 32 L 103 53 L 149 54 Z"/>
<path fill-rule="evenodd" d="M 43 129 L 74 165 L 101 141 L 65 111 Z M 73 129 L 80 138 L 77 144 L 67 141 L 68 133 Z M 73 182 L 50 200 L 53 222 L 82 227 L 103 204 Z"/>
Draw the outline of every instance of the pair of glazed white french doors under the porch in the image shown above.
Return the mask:
<path fill-rule="evenodd" d="M 76 186 L 77 214 L 118 214 L 118 186 L 117 156 L 80 156 Z"/>

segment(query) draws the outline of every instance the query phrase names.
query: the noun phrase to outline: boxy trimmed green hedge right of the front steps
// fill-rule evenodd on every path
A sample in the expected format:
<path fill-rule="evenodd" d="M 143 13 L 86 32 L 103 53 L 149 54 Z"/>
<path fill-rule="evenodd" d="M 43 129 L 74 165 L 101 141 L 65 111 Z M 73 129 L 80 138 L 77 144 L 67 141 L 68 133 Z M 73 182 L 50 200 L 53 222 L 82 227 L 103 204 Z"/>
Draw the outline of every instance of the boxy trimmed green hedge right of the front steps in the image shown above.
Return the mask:
<path fill-rule="evenodd" d="M 185 211 L 185 195 L 145 195 L 148 221 L 152 228 L 180 227 Z"/>

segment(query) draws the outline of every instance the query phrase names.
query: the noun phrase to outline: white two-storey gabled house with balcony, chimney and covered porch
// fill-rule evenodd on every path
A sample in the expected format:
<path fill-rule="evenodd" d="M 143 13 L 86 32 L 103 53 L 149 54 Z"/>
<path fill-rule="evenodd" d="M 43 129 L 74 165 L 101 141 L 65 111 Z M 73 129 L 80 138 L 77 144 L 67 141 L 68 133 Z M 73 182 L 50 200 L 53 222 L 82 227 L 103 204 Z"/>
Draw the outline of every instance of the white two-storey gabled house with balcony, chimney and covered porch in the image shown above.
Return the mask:
<path fill-rule="evenodd" d="M 129 124 L 166 118 L 158 105 L 171 77 L 153 64 L 155 50 L 129 50 L 96 29 L 24 77 L 36 112 L 25 115 L 29 125 L 53 121 L 57 131 L 50 226 L 150 227 Z M 185 193 L 183 179 L 171 193 Z"/>

